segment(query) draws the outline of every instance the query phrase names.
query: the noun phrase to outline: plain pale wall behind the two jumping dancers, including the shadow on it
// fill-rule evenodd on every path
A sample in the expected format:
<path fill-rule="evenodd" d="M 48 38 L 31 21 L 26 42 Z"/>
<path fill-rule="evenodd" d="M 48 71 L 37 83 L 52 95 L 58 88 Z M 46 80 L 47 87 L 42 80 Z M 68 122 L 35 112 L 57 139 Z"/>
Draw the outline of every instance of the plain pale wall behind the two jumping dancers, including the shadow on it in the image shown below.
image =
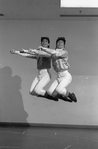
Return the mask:
<path fill-rule="evenodd" d="M 77 103 L 54 102 L 29 94 L 37 75 L 36 60 L 10 50 L 36 48 L 41 36 L 51 47 L 64 36 L 69 53 L 68 86 Z M 0 122 L 98 125 L 98 21 L 0 21 Z M 56 77 L 51 69 L 52 81 Z M 49 87 L 46 87 L 46 89 Z"/>

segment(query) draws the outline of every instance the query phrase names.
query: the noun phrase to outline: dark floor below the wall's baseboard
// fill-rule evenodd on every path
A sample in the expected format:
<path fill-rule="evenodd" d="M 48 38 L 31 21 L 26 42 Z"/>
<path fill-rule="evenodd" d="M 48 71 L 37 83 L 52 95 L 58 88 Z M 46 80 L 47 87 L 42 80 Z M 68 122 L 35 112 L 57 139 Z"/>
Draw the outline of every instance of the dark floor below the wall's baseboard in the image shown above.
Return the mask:
<path fill-rule="evenodd" d="M 98 149 L 98 130 L 0 127 L 0 149 Z"/>

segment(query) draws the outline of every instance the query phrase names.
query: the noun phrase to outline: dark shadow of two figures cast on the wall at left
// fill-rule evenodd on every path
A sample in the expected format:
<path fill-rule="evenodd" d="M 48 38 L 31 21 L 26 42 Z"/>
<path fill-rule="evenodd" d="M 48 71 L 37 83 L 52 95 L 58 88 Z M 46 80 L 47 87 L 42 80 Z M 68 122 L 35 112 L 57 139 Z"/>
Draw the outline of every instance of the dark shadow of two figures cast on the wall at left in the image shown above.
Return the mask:
<path fill-rule="evenodd" d="M 20 92 L 21 78 L 10 67 L 0 69 L 0 122 L 27 123 Z"/>

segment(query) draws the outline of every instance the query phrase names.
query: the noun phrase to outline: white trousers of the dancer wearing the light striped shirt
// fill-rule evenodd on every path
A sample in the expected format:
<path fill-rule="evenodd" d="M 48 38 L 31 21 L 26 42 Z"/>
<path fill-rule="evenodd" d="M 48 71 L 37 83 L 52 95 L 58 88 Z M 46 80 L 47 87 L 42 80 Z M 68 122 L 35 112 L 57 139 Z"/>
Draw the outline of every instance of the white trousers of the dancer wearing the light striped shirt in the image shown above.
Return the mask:
<path fill-rule="evenodd" d="M 71 81 L 72 76 L 67 70 L 57 73 L 57 79 L 52 83 L 52 85 L 48 89 L 48 93 L 50 95 L 55 95 L 55 92 L 57 92 L 65 96 L 67 94 L 66 87 L 71 83 Z"/>

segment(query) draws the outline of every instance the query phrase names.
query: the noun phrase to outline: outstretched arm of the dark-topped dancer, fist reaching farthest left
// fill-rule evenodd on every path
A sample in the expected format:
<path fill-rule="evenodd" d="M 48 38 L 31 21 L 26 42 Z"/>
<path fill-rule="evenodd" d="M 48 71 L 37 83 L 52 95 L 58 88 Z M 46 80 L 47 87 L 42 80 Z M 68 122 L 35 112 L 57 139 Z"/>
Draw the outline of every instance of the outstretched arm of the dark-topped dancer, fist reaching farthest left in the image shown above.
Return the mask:
<path fill-rule="evenodd" d="M 10 53 L 11 54 L 17 54 L 17 55 L 20 55 L 20 56 L 23 56 L 23 57 L 27 57 L 27 58 L 34 58 L 34 59 L 36 59 L 37 58 L 37 56 L 36 56 L 36 54 L 29 54 L 29 53 L 26 53 L 26 51 L 24 52 L 24 49 L 23 50 L 21 50 L 21 51 L 17 51 L 17 50 L 11 50 L 10 51 Z"/>

